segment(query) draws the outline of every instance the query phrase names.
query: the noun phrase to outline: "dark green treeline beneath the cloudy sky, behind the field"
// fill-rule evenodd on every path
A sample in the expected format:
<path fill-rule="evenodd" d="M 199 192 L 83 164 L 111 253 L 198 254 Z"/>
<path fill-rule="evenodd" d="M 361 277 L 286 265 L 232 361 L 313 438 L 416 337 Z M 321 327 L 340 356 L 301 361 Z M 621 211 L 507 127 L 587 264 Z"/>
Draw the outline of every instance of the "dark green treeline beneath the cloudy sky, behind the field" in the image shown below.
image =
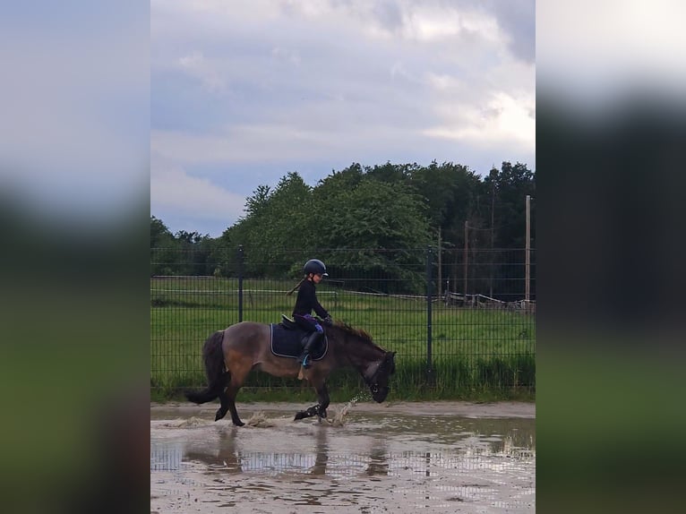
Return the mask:
<path fill-rule="evenodd" d="M 161 219 L 150 217 L 151 272 L 234 276 L 242 245 L 247 276 L 294 278 L 308 250 L 316 249 L 336 278 L 374 277 L 384 292 L 390 291 L 383 284 L 398 280 L 408 291 L 421 290 L 425 253 L 408 250 L 440 244 L 457 259 L 465 236 L 471 252 L 522 249 L 525 198 L 535 189 L 535 172 L 510 162 L 483 177 L 452 162 L 353 164 L 314 186 L 288 173 L 273 189 L 258 186 L 245 201 L 244 216 L 217 238 L 171 234 Z M 535 202 L 531 219 L 535 240 Z M 294 254 L 298 249 L 302 254 Z M 444 277 L 457 275 L 455 259 L 446 261 Z"/>

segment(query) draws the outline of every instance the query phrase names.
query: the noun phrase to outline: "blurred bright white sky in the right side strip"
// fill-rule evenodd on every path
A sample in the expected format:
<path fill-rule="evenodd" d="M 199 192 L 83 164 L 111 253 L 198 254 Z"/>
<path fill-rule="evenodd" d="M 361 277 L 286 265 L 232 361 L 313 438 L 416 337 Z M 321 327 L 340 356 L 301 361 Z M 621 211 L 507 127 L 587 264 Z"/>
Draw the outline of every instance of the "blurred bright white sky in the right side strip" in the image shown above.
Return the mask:
<path fill-rule="evenodd" d="M 539 83 L 581 100 L 579 107 L 597 113 L 634 88 L 683 97 L 683 2 L 553 1 L 537 13 Z"/>

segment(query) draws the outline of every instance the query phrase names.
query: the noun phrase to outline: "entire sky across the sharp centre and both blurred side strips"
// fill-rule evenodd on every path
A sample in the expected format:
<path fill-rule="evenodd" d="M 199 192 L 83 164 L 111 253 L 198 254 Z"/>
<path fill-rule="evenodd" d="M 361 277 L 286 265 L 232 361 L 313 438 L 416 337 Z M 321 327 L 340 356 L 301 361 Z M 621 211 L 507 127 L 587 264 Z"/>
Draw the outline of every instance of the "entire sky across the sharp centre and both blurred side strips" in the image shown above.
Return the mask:
<path fill-rule="evenodd" d="M 293 171 L 536 169 L 535 92 L 604 124 L 630 90 L 680 112 L 684 17 L 676 0 L 547 0 L 536 20 L 521 0 L 6 3 L 0 202 L 218 236 Z"/>

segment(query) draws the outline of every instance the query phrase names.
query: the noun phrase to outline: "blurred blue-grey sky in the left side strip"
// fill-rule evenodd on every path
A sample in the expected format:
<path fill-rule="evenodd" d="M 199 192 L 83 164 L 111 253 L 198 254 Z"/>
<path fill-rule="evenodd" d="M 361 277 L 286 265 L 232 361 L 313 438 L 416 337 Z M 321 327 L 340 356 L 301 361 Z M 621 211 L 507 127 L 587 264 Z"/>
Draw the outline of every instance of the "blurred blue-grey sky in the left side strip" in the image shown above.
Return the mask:
<path fill-rule="evenodd" d="M 148 188 L 147 8 L 5 14 L 0 180 L 53 217 L 120 216 Z"/>

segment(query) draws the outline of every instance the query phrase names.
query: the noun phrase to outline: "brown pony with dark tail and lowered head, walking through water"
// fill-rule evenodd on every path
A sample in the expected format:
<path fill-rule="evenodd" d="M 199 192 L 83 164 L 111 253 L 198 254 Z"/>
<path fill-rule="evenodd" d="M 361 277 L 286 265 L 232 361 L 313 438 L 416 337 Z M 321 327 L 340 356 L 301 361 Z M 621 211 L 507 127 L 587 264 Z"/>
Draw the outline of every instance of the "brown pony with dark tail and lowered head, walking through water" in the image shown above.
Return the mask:
<path fill-rule="evenodd" d="M 376 345 L 364 330 L 337 321 L 324 327 L 327 347 L 321 356 L 314 356 L 311 366 L 301 369 L 296 359 L 299 354 L 278 356 L 272 353 L 272 333 L 275 327 L 295 330 L 286 316 L 277 324 L 241 321 L 210 335 L 202 347 L 208 387 L 205 390 L 186 390 L 185 397 L 196 404 L 219 398 L 221 405 L 214 420 L 219 421 L 227 411 L 236 426 L 244 423 L 236 411 L 236 394 L 245 378 L 254 369 L 277 377 L 307 378 L 317 393 L 318 403 L 296 413 L 294 421 L 312 417 L 326 417 L 329 407 L 329 391 L 326 380 L 330 373 L 340 367 L 354 368 L 366 383 L 372 398 L 378 403 L 389 394 L 390 375 L 395 372 L 395 354 Z M 313 353 L 316 348 L 313 348 Z"/>

